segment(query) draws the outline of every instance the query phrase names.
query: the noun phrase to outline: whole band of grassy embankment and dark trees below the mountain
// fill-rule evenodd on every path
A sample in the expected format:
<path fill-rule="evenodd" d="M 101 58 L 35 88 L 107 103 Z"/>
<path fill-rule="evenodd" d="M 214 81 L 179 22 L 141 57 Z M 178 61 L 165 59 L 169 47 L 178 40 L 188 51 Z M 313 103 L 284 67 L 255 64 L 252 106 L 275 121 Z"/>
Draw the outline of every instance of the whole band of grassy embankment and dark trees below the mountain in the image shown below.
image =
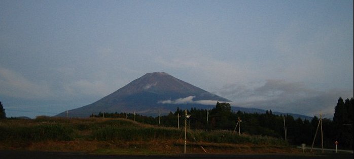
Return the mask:
<path fill-rule="evenodd" d="M 322 119 L 325 146 L 333 148 L 339 141 L 340 148 L 352 149 L 353 98 L 338 99 L 333 121 Z M 208 110 L 187 111 L 187 146 L 194 153 L 203 153 L 200 146 L 213 153 L 294 152 L 289 145 L 311 145 L 318 125 L 318 117 L 311 121 L 292 116 L 232 112 L 229 103 L 217 103 Z M 105 118 L 52 118 L 40 116 L 35 120 L 0 120 L 0 149 L 29 149 L 51 151 L 82 151 L 92 153 L 181 153 L 184 145 L 185 116 L 180 117 L 180 129 L 176 128 L 177 109 L 167 116 L 145 117 L 133 114 L 104 114 Z M 95 117 L 103 117 L 100 113 Z M 93 116 L 92 116 L 93 117 Z M 240 117 L 241 135 L 235 130 Z M 123 119 L 119 119 L 123 118 Z M 124 119 L 128 118 L 128 119 Z M 135 119 L 135 122 L 129 119 Z M 284 140 L 286 130 L 288 141 Z M 143 124 L 145 123 L 145 124 Z M 317 135 L 315 145 L 321 139 Z M 90 145 L 90 146 L 88 146 Z"/>

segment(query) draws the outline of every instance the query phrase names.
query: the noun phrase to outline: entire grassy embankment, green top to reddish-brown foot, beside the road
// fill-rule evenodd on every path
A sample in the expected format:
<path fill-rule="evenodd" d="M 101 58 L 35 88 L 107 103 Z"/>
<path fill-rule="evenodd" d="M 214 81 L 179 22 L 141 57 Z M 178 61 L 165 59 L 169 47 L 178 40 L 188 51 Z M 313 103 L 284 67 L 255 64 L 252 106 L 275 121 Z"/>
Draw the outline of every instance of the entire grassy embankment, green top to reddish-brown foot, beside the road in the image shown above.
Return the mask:
<path fill-rule="evenodd" d="M 187 153 L 299 153 L 282 140 L 232 131 L 188 130 Z M 96 154 L 183 153 L 184 130 L 125 119 L 0 120 L 0 149 Z"/>

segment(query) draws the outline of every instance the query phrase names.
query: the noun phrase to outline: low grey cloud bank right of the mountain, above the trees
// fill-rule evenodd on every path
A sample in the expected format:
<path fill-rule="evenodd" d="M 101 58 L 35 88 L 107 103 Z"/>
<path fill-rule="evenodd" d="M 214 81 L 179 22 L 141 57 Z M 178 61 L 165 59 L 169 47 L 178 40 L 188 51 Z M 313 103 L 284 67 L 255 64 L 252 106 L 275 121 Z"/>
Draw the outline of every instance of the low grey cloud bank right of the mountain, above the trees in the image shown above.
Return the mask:
<path fill-rule="evenodd" d="M 259 108 L 284 113 L 314 116 L 324 113 L 333 117 L 339 97 L 350 98 L 353 90 L 315 90 L 301 82 L 267 80 L 265 83 L 225 85 L 215 92 L 233 100 L 233 106 Z"/>

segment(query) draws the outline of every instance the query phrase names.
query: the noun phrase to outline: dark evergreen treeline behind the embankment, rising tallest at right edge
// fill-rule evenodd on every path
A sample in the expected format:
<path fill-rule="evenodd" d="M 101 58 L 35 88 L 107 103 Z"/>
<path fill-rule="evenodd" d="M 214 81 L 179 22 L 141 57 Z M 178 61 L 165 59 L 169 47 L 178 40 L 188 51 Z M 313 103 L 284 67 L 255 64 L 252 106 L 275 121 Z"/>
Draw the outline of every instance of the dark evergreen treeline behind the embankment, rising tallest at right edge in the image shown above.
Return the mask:
<path fill-rule="evenodd" d="M 208 118 L 207 118 L 208 112 Z M 241 134 L 266 135 L 272 137 L 285 138 L 290 144 L 311 145 L 320 117 L 313 117 L 311 121 L 294 119 L 290 115 L 274 115 L 272 111 L 267 111 L 265 114 L 259 113 L 244 113 L 232 112 L 229 103 L 217 103 L 216 107 L 211 110 L 195 109 L 187 110 L 190 116 L 187 120 L 187 125 L 191 129 L 204 130 L 235 130 L 238 117 L 240 118 Z M 102 117 L 99 113 L 95 117 Z M 174 112 L 170 112 L 167 116 L 160 117 L 160 125 L 167 127 L 178 127 L 178 116 L 180 116 L 179 127 L 184 126 L 185 111 L 179 108 Z M 92 116 L 91 116 L 92 117 Z M 159 117 L 146 117 L 141 115 L 133 115 L 126 113 L 104 113 L 107 118 L 127 118 L 135 119 L 137 122 L 159 125 Z M 285 123 L 285 125 L 284 125 Z M 333 120 L 323 118 L 323 139 L 324 146 L 327 148 L 335 147 L 334 142 L 338 141 L 339 148 L 353 149 L 353 98 L 343 101 L 338 99 L 335 107 Z M 238 128 L 237 130 L 238 131 Z M 315 146 L 321 145 L 321 130 L 318 130 L 315 139 Z"/>

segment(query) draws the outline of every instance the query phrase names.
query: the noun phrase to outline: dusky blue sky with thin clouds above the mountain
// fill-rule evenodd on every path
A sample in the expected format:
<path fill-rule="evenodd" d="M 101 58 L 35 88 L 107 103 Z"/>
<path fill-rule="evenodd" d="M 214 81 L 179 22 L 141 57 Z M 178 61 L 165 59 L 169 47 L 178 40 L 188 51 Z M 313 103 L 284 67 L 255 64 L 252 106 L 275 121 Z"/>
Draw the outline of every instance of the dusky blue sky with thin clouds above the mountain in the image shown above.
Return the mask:
<path fill-rule="evenodd" d="M 0 0 L 7 117 L 79 108 L 150 72 L 332 118 L 353 97 L 353 1 Z"/>

